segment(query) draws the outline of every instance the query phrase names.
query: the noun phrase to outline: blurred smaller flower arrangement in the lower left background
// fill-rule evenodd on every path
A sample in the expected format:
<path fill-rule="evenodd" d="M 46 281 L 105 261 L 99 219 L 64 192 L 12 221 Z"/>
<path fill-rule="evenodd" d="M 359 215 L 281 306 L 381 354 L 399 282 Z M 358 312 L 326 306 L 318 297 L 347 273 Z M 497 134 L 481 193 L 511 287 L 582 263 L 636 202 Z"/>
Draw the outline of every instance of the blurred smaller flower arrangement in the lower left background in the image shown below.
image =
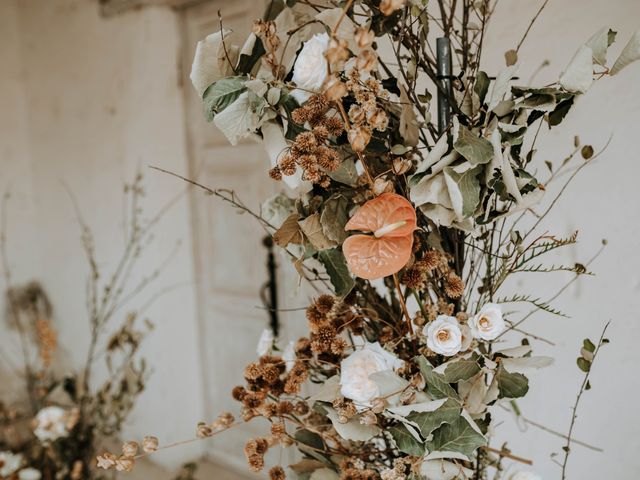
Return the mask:
<path fill-rule="evenodd" d="M 138 176 L 125 188 L 130 208 L 126 242 L 120 267 L 108 276 L 98 269 L 93 234 L 78 212 L 90 268 L 90 337 L 86 362 L 78 371 L 64 366 L 53 305 L 44 288 L 38 282 L 13 284 L 7 236 L 2 232 L 2 270 L 8 286 L 3 328 L 15 334 L 22 357 L 0 355 L 0 372 L 9 374 L 8 385 L 13 387 L 0 398 L 0 480 L 106 478 L 96 469 L 96 450 L 116 441 L 149 375 L 140 347 L 152 324 L 141 318 L 142 310 L 122 312 L 160 273 L 131 282 L 152 226 L 162 214 L 151 222 L 142 218 L 141 182 Z M 145 448 L 152 449 L 154 442 L 146 439 Z"/>

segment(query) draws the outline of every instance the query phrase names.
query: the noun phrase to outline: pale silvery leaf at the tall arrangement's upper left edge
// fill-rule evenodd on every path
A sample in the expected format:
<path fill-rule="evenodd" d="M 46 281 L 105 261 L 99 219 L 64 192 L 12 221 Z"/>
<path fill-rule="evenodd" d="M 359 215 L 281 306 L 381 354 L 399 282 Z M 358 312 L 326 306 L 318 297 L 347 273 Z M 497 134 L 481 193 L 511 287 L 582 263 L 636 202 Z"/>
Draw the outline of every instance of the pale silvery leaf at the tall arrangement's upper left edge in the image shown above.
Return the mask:
<path fill-rule="evenodd" d="M 227 52 L 222 45 L 222 39 L 230 36 L 231 30 L 225 29 L 208 35 L 204 40 L 200 40 L 196 45 L 196 53 L 191 65 L 189 78 L 193 87 L 202 96 L 204 91 L 213 82 L 221 78 L 233 75 L 233 67 L 227 60 L 235 63 L 238 59 L 238 48 L 227 45 Z"/>

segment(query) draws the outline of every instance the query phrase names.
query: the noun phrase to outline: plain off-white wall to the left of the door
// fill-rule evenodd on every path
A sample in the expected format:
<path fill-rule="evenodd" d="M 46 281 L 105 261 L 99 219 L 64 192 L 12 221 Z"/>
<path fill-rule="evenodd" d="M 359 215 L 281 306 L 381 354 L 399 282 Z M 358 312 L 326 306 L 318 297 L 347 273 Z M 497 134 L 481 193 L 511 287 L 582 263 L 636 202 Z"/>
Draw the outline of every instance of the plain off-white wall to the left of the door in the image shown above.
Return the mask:
<path fill-rule="evenodd" d="M 182 191 L 175 179 L 146 168 L 187 168 L 178 20 L 164 8 L 103 19 L 97 2 L 86 0 L 0 2 L 0 188 L 13 194 L 11 267 L 16 282 L 37 279 L 51 296 L 67 367 L 86 356 L 88 270 L 63 183 L 95 233 L 105 274 L 122 251 L 123 183 L 143 171 L 147 216 Z M 169 442 L 191 437 L 203 419 L 186 197 L 155 231 L 138 277 L 157 268 L 176 242 L 182 245 L 130 307 L 164 287 L 186 285 L 147 312 L 157 325 L 144 348 L 153 375 L 125 435 L 156 434 Z M 12 346 L 2 348 L 10 353 Z M 158 458 L 175 465 L 198 452 L 174 449 Z"/>

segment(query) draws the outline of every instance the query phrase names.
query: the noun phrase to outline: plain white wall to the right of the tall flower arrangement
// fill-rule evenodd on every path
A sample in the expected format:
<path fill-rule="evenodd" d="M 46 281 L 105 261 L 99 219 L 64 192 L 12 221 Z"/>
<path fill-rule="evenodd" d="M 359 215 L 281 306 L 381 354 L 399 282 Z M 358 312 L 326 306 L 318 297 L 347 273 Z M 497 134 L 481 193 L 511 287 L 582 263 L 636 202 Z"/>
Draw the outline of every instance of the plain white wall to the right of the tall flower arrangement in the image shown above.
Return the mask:
<path fill-rule="evenodd" d="M 495 74 L 504 66 L 503 53 L 515 47 L 541 3 L 500 2 L 489 29 L 483 69 Z M 631 34 L 640 28 L 640 2 L 549 2 L 520 50 L 521 82 L 526 82 L 545 59 L 551 64 L 534 83 L 544 85 L 557 79 L 578 46 L 603 26 L 619 32 L 610 53 L 614 60 Z M 551 132 L 543 128 L 538 143 L 539 160 L 552 160 L 557 165 L 571 151 L 574 135 L 579 135 L 583 143 L 592 144 L 596 151 L 613 135 L 607 151 L 579 174 L 540 231 L 567 235 L 580 230 L 580 243 L 564 253 L 561 260 L 565 262 L 585 262 L 600 247 L 601 239 L 608 239 L 608 248 L 591 268 L 597 276 L 583 277 L 556 303 L 571 318 L 537 315 L 523 325 L 525 330 L 534 331 L 557 346 L 535 343 L 537 351 L 555 357 L 556 362 L 533 377 L 529 395 L 520 406 L 532 420 L 566 432 L 570 407 L 582 379 L 575 363 L 581 341 L 585 337 L 597 338 L 604 323 L 612 320 L 607 335 L 611 344 L 604 348 L 593 369 L 593 388 L 583 396 L 575 429 L 576 438 L 604 448 L 605 453 L 575 446 L 568 478 L 631 479 L 640 471 L 640 414 L 635 408 L 635 399 L 640 395 L 640 158 L 635 148 L 638 114 L 640 64 L 635 64 L 619 76 L 597 82 L 562 125 Z M 543 172 L 541 169 L 545 178 Z M 557 187 L 550 189 L 549 197 Z M 543 298 L 551 296 L 570 278 L 562 274 L 523 275 L 530 276 L 520 277 L 520 291 L 524 288 Z M 520 434 L 508 418 L 498 432 L 496 445 L 509 439 L 515 454 L 534 460 L 532 470 L 545 479 L 560 478 L 560 469 L 550 454 L 563 453 L 561 439 L 532 428 Z"/>

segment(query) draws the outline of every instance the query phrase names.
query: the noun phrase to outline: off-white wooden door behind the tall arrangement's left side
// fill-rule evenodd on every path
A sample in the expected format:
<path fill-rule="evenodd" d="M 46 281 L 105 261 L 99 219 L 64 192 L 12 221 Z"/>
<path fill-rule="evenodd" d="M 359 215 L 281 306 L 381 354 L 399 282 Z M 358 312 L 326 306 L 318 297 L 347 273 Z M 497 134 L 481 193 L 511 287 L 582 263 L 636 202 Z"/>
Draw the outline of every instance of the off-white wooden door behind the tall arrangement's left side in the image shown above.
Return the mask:
<path fill-rule="evenodd" d="M 264 13 L 263 0 L 212 0 L 184 11 L 185 71 L 198 40 L 224 28 L 234 31 L 230 41 L 242 45 L 255 18 Z M 185 75 L 186 76 L 186 75 Z M 190 86 L 189 86 L 190 87 Z M 267 175 L 268 158 L 262 145 L 246 141 L 229 145 L 204 119 L 202 102 L 186 88 L 187 133 L 191 178 L 211 188 L 233 189 L 254 211 L 281 188 Z M 231 389 L 243 383 L 245 365 L 255 360 L 256 342 L 268 326 L 268 312 L 260 308 L 259 292 L 268 278 L 265 232 L 255 219 L 240 215 L 229 204 L 200 191 L 192 192 L 195 270 L 198 282 L 200 345 L 204 365 L 209 419 L 224 410 L 238 412 Z M 281 257 L 278 263 L 286 264 Z M 292 268 L 284 265 L 289 271 Z M 291 275 L 291 274 L 289 274 Z M 253 421 L 211 440 L 212 460 L 246 471 L 244 442 L 265 435 L 266 425 Z"/>

